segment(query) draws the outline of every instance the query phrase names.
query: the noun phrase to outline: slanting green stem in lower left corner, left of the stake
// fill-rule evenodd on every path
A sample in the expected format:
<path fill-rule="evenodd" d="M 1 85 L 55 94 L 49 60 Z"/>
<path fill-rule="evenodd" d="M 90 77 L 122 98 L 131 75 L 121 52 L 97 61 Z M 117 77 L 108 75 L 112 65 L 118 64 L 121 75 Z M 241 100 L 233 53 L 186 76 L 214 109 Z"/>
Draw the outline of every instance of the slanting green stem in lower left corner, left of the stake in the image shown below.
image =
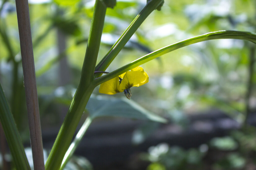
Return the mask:
<path fill-rule="evenodd" d="M 0 84 L 0 121 L 12 154 L 16 169 L 30 169 L 12 113 Z"/>

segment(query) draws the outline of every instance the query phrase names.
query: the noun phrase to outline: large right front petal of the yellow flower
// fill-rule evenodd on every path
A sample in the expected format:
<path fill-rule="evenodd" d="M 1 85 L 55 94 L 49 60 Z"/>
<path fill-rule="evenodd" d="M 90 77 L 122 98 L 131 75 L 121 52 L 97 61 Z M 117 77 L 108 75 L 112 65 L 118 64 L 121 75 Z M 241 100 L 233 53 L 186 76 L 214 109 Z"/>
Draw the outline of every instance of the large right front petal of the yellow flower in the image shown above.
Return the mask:
<path fill-rule="evenodd" d="M 141 71 L 127 71 L 120 83 L 119 91 L 124 91 L 133 86 L 138 87 L 146 84 L 148 82 L 148 75 L 146 75 Z"/>

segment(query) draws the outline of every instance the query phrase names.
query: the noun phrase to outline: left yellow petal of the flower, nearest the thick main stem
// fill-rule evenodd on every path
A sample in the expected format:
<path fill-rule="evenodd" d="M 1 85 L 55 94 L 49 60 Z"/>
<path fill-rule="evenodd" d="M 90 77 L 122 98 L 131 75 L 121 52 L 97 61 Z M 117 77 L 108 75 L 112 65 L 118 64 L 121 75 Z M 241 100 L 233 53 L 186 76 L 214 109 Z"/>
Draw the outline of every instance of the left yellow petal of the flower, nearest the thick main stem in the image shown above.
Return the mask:
<path fill-rule="evenodd" d="M 115 77 L 114 79 L 111 79 L 109 81 L 106 81 L 100 85 L 99 92 L 113 95 L 122 91 L 119 91 L 119 78 Z M 123 90 L 124 91 L 124 90 Z"/>

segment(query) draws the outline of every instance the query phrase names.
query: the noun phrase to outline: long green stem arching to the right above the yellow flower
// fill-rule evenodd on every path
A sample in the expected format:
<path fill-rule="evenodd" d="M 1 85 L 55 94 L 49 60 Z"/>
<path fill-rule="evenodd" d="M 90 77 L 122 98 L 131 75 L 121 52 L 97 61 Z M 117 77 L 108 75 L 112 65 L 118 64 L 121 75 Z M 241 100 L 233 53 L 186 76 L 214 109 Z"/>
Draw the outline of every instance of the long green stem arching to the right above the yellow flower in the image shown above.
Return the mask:
<path fill-rule="evenodd" d="M 215 40 L 215 39 L 239 39 L 239 40 L 248 40 L 252 42 L 256 42 L 256 34 L 252 32 L 242 32 L 242 31 L 216 31 L 216 32 L 210 32 L 207 34 L 203 34 L 200 36 L 196 36 L 193 38 L 189 38 L 187 40 L 183 40 L 174 44 L 171 44 L 169 46 L 163 47 L 161 49 L 158 49 L 150 54 L 147 54 L 137 60 L 134 60 L 133 62 L 126 64 L 125 66 L 109 73 L 106 75 L 103 75 L 99 78 L 95 79 L 96 85 L 100 85 L 103 82 L 106 82 L 110 79 L 113 79 L 114 77 L 119 76 L 120 74 L 123 74 L 126 71 L 129 71 L 137 66 L 140 66 L 141 64 L 144 64 L 150 60 L 153 60 L 159 56 L 162 56 L 166 53 L 169 53 L 171 51 L 174 51 L 178 48 L 182 48 L 191 44 L 195 44 L 202 41 L 207 40 Z"/>

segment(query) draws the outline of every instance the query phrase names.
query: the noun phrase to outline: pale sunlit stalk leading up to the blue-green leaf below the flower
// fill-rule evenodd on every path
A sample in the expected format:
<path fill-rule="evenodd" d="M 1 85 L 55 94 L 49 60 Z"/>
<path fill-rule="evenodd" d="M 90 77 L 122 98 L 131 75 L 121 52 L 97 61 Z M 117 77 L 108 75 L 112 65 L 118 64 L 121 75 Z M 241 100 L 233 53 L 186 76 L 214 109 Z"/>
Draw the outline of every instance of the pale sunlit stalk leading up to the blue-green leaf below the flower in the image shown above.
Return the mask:
<path fill-rule="evenodd" d="M 71 145 L 68 148 L 68 151 L 66 152 L 64 159 L 62 161 L 60 170 L 62 170 L 63 168 L 65 168 L 66 164 L 68 163 L 69 159 L 71 158 L 71 156 L 73 155 L 74 151 L 77 149 L 80 141 L 82 140 L 84 134 L 86 133 L 88 127 L 90 126 L 90 124 L 92 123 L 92 118 L 90 116 L 88 116 L 86 118 L 86 120 L 84 121 L 82 127 L 80 128 L 80 130 L 78 131 L 74 141 L 71 143 Z"/>

